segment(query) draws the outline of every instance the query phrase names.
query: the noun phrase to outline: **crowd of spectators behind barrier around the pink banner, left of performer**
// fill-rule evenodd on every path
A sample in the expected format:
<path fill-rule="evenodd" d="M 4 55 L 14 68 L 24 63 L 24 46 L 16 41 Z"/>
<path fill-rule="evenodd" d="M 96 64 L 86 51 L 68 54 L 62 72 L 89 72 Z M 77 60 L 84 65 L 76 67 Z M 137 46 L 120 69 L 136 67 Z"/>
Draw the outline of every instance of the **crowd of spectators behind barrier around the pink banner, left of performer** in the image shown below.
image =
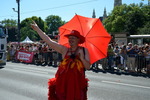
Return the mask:
<path fill-rule="evenodd" d="M 32 44 L 19 44 L 19 47 L 18 44 L 8 43 L 7 61 L 21 62 L 16 57 L 18 51 L 33 52 L 32 63 L 36 65 L 56 67 L 61 61 L 61 55 L 43 41 Z"/>

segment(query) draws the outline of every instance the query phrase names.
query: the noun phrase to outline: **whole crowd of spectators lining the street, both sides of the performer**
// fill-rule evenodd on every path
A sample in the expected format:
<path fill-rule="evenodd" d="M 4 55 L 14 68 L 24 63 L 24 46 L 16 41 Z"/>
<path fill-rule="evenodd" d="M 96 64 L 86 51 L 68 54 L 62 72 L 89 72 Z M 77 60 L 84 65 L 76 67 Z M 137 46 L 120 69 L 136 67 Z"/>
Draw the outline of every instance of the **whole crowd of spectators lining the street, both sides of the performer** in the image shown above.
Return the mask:
<path fill-rule="evenodd" d="M 7 46 L 7 60 L 18 62 L 17 51 L 34 52 L 33 64 L 56 67 L 61 61 L 61 55 L 51 49 L 45 42 L 33 44 L 11 44 Z M 150 74 L 150 43 L 137 45 L 109 44 L 106 58 L 95 62 L 91 69 L 98 69 L 99 64 L 104 70 L 123 70 L 128 72 L 146 72 Z"/>

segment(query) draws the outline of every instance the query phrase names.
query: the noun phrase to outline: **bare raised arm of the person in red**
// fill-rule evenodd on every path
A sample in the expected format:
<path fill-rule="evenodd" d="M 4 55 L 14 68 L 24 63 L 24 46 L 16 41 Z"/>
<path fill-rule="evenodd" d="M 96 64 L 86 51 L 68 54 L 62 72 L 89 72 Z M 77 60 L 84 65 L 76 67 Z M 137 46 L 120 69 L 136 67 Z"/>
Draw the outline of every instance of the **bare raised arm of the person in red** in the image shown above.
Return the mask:
<path fill-rule="evenodd" d="M 31 27 L 33 30 L 35 30 L 39 36 L 54 50 L 57 52 L 64 54 L 66 51 L 66 47 L 63 45 L 58 44 L 57 42 L 53 41 L 49 36 L 47 36 L 39 27 L 38 25 L 33 21 L 31 24 Z"/>

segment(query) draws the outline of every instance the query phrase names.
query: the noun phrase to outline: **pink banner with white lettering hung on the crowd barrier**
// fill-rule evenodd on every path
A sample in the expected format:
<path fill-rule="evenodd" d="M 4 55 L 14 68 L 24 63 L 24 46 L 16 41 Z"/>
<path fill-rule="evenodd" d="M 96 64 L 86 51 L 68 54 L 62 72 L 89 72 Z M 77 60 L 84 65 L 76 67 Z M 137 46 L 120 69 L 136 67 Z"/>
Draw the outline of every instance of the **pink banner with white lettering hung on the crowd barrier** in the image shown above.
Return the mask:
<path fill-rule="evenodd" d="M 18 51 L 17 52 L 17 59 L 25 62 L 25 63 L 31 63 L 33 60 L 34 52 L 26 52 L 26 51 Z"/>

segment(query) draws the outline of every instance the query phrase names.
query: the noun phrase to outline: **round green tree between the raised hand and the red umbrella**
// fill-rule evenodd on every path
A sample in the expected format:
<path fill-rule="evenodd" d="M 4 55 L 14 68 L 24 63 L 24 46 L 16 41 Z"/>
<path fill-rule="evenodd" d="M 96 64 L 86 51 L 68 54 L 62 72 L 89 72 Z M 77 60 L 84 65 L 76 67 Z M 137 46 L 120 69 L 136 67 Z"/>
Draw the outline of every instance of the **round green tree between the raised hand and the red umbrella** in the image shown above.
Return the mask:
<path fill-rule="evenodd" d="M 65 24 L 65 21 L 61 20 L 61 17 L 56 15 L 49 15 L 46 17 L 45 22 L 48 26 L 48 34 L 52 34 L 53 32 L 57 32 L 58 28 Z"/>

